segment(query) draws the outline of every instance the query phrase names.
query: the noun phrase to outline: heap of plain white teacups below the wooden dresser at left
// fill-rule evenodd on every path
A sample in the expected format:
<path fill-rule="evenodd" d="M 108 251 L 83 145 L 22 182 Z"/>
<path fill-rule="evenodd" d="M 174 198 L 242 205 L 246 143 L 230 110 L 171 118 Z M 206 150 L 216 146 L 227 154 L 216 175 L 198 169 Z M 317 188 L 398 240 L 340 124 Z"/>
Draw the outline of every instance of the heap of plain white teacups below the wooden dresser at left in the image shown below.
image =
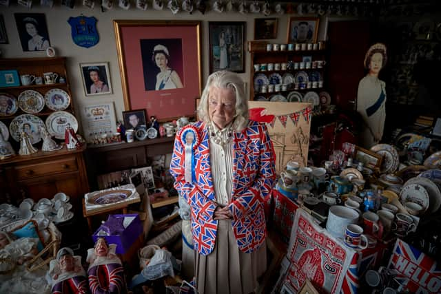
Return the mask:
<path fill-rule="evenodd" d="M 6 226 L 17 220 L 35 220 L 38 229 L 42 233 L 45 242 L 50 238 L 46 229 L 50 222 L 56 224 L 66 222 L 74 217 L 71 211 L 70 197 L 65 193 L 57 193 L 52 199 L 41 198 L 34 202 L 31 198 L 25 198 L 19 207 L 12 204 L 0 204 L 0 227 Z"/>

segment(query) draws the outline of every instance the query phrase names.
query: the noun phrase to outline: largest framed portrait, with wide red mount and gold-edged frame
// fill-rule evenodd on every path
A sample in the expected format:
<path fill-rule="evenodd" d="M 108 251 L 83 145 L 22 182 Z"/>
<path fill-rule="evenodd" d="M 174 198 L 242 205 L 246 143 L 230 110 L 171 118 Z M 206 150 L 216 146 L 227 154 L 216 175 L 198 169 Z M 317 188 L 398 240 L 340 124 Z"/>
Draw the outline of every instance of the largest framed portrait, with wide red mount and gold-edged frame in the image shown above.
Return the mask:
<path fill-rule="evenodd" d="M 114 30 L 125 110 L 148 109 L 158 120 L 194 116 L 201 21 L 117 20 Z"/>

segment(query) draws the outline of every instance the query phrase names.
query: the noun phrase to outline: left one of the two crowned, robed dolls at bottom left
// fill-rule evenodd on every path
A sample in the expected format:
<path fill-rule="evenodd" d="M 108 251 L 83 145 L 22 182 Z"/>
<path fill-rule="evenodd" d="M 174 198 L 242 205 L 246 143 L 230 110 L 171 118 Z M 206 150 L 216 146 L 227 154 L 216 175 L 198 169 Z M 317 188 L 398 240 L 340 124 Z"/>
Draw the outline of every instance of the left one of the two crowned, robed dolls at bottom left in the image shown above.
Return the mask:
<path fill-rule="evenodd" d="M 81 256 L 74 255 L 69 247 L 57 252 L 57 258 L 50 261 L 49 277 L 52 279 L 52 293 L 90 293 Z"/>

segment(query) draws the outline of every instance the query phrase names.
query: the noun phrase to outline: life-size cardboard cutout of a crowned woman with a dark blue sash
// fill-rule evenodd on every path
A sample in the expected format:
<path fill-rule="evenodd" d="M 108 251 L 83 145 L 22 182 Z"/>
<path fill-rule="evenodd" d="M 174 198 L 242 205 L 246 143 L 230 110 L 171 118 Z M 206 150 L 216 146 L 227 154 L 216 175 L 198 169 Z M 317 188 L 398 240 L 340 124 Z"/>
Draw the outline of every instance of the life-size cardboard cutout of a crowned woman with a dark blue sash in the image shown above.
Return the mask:
<path fill-rule="evenodd" d="M 386 46 L 376 43 L 365 56 L 365 68 L 369 71 L 358 84 L 357 112 L 365 121 L 362 132 L 362 146 L 370 148 L 380 142 L 386 120 L 386 83 L 380 81 L 378 74 L 386 65 Z"/>

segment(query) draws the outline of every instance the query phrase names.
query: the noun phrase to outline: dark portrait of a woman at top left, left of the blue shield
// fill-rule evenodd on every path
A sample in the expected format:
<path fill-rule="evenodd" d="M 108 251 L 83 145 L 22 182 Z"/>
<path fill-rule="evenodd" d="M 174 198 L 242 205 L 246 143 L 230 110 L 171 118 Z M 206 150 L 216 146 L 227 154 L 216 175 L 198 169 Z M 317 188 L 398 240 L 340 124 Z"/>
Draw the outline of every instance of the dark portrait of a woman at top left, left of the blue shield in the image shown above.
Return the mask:
<path fill-rule="evenodd" d="M 44 13 L 15 13 L 23 51 L 46 51 L 50 47 Z"/>

